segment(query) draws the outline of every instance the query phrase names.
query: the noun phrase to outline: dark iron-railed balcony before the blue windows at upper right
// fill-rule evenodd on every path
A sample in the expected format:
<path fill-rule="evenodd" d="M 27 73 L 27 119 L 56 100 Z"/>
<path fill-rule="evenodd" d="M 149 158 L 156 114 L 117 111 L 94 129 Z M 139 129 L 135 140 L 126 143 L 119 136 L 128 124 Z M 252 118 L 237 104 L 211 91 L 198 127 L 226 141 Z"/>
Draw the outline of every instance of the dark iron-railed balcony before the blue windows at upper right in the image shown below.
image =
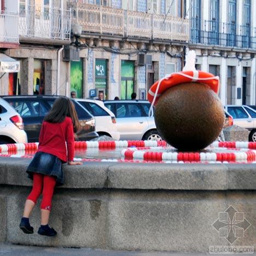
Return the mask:
<path fill-rule="evenodd" d="M 190 43 L 255 49 L 256 27 L 190 19 Z"/>

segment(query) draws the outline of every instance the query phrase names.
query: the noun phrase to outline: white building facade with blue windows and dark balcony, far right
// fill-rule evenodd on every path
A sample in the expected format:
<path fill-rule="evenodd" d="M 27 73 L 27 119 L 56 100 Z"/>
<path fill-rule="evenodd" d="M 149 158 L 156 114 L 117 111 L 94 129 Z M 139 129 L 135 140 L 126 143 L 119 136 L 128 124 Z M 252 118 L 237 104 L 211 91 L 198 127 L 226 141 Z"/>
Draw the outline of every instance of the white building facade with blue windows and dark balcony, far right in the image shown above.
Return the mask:
<path fill-rule="evenodd" d="M 256 2 L 191 0 L 189 49 L 196 67 L 220 77 L 223 104 L 256 104 Z"/>

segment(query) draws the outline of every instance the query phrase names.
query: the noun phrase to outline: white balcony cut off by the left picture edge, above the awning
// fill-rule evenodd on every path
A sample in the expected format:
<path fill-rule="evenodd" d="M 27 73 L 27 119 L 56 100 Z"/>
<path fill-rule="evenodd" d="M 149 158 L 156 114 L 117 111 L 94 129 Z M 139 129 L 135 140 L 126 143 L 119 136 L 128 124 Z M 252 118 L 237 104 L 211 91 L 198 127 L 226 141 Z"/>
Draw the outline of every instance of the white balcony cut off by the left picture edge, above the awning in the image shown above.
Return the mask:
<path fill-rule="evenodd" d="M 0 11 L 0 48 L 1 45 L 7 48 L 16 48 L 11 45 L 19 44 L 18 33 L 19 15 L 17 13 L 8 13 Z"/>

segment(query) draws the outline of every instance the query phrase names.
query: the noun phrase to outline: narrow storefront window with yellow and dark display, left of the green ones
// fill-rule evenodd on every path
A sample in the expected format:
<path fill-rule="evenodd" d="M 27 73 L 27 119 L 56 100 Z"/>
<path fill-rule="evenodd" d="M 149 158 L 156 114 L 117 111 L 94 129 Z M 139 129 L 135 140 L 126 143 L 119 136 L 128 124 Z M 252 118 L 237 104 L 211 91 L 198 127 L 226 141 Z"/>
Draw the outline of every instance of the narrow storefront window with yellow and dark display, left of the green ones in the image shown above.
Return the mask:
<path fill-rule="evenodd" d="M 33 94 L 42 95 L 45 91 L 45 61 L 34 60 Z"/>

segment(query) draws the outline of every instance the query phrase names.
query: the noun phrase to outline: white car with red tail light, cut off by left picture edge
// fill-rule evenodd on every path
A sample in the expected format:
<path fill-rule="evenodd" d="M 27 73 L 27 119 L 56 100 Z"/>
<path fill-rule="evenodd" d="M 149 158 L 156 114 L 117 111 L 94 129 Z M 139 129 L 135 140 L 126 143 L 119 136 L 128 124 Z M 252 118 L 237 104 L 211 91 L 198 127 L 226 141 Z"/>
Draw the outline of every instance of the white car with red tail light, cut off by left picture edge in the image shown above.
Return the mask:
<path fill-rule="evenodd" d="M 0 98 L 0 144 L 8 143 L 27 143 L 27 134 L 19 113 Z"/>

